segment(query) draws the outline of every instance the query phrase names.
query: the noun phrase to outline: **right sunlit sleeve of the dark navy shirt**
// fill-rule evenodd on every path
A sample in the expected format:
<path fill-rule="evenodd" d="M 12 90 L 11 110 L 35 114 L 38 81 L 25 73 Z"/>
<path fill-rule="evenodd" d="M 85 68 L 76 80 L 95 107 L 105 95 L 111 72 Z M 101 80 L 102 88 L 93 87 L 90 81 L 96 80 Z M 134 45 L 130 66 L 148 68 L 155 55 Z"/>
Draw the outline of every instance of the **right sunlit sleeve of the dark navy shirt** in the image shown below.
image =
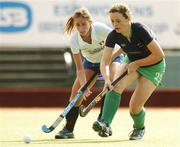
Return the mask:
<path fill-rule="evenodd" d="M 152 30 L 150 30 L 150 28 L 148 28 L 146 25 L 141 24 L 138 28 L 138 33 L 140 39 L 144 42 L 145 45 L 148 45 L 155 38 Z"/>

